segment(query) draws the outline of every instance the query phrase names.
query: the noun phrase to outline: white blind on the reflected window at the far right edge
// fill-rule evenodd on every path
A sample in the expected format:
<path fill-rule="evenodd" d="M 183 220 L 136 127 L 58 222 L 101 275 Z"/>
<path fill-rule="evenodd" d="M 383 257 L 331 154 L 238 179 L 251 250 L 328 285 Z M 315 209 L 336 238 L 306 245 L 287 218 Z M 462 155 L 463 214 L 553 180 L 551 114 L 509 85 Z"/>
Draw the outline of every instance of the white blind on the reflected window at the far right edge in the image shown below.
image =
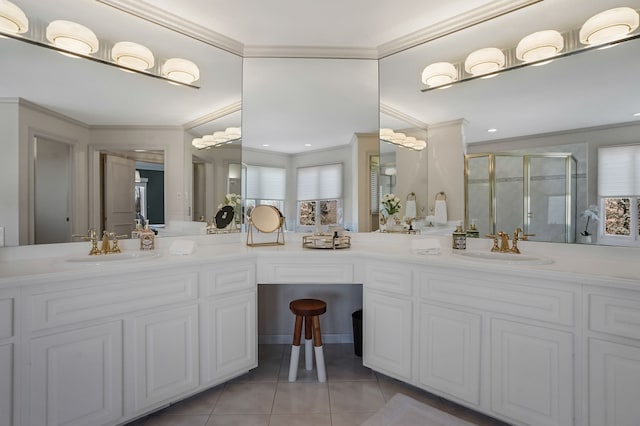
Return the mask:
<path fill-rule="evenodd" d="M 598 149 L 598 195 L 640 195 L 640 145 Z"/>

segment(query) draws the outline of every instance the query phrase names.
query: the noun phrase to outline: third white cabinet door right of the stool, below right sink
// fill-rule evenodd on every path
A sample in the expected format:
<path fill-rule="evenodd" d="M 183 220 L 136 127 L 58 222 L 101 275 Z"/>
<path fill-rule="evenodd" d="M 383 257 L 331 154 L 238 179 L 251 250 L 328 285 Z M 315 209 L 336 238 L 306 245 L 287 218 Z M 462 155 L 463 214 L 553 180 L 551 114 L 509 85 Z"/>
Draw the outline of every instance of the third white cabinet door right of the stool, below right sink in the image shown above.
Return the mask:
<path fill-rule="evenodd" d="M 573 335 L 491 321 L 491 408 L 537 426 L 573 424 Z"/>

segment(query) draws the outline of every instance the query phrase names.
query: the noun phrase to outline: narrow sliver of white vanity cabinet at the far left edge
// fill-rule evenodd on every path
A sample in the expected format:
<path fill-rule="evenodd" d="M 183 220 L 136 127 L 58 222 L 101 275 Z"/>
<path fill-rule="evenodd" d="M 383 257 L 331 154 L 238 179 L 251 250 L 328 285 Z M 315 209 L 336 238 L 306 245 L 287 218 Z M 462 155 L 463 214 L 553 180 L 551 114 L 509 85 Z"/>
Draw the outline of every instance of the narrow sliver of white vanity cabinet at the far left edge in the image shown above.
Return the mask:
<path fill-rule="evenodd" d="M 17 290 L 0 290 L 0 425 L 7 426 L 18 424 L 18 304 Z"/>

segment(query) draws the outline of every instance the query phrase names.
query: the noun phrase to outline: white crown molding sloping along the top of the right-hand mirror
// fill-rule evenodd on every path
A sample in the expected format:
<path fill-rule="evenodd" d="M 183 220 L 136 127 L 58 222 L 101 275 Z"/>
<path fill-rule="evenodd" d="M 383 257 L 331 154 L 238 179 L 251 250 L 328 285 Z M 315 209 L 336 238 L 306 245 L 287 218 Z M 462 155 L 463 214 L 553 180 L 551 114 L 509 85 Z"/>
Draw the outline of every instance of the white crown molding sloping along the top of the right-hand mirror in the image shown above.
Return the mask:
<path fill-rule="evenodd" d="M 378 58 L 478 25 L 543 0 L 498 0 L 378 46 Z"/>

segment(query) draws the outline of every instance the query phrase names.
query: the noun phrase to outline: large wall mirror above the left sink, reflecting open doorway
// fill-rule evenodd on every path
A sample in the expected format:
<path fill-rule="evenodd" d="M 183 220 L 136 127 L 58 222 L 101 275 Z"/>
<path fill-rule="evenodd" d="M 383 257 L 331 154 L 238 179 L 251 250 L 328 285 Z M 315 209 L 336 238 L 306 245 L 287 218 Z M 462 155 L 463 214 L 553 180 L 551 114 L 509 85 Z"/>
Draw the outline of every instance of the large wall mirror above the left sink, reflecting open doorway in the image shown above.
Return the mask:
<path fill-rule="evenodd" d="M 194 62 L 200 78 L 194 83 L 199 89 L 172 85 L 41 46 L 0 39 L 0 54 L 11 58 L 5 61 L 0 81 L 4 182 L 0 223 L 5 244 L 64 242 L 71 240 L 71 234 L 86 233 L 88 227 L 102 228 L 101 158 L 107 154 L 133 161 L 134 170 L 135 162 L 158 165 L 163 173 L 165 225 L 211 217 L 228 191 L 230 165 L 241 162 L 240 144 L 198 150 L 191 141 L 226 127 L 240 127 L 242 58 L 100 2 L 16 3 L 29 16 L 34 34 L 55 19 L 75 21 L 96 34 L 100 57 L 108 55 L 118 41 L 133 41 L 148 47 L 156 64 L 173 57 Z M 59 167 L 40 164 L 47 156 L 59 155 L 66 156 Z M 67 172 L 55 176 L 60 183 L 53 187 L 60 192 L 53 199 L 60 204 L 60 217 L 54 218 L 42 214 L 47 201 L 39 196 L 43 192 L 39 182 L 46 179 L 47 170 L 60 167 Z M 128 183 L 135 185 L 133 180 Z M 135 209 L 133 195 L 131 200 Z M 47 228 L 63 231 L 51 240 L 38 231 Z"/>

